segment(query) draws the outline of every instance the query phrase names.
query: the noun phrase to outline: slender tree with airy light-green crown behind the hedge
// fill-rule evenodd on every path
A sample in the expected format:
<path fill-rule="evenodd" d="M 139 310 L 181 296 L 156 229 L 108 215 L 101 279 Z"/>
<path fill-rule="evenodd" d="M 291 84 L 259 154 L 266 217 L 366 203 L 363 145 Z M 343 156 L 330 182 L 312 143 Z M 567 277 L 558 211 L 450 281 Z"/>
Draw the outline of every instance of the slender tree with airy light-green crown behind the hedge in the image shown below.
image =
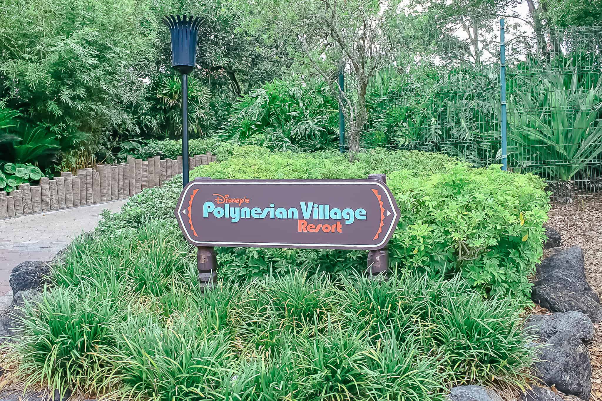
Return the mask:
<path fill-rule="evenodd" d="M 296 63 L 320 75 L 338 99 L 346 118 L 349 150 L 358 152 L 367 120 L 368 82 L 396 58 L 394 29 L 399 2 L 378 0 L 240 1 L 243 23 L 264 32 L 268 43 L 296 43 Z M 343 69 L 351 91 L 343 93 L 337 70 Z M 351 95 L 353 94 L 353 96 Z"/>

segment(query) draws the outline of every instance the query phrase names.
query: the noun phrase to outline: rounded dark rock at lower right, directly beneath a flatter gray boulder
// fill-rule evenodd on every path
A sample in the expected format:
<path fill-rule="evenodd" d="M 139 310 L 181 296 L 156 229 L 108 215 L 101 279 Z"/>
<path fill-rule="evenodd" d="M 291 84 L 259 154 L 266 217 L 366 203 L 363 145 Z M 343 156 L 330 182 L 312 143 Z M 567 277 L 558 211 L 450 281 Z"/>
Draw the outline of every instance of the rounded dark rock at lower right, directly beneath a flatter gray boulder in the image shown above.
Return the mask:
<path fill-rule="evenodd" d="M 583 341 L 570 331 L 560 332 L 539 350 L 535 376 L 548 387 L 589 400 L 592 366 Z"/>

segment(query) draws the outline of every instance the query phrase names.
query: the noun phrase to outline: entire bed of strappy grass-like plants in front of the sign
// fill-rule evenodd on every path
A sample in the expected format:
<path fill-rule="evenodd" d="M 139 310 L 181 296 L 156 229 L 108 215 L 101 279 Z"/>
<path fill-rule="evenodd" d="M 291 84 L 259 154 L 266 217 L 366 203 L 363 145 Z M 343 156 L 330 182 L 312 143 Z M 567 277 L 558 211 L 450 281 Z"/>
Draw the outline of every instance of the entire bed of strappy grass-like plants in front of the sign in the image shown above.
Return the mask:
<path fill-rule="evenodd" d="M 521 308 L 459 277 L 297 271 L 201 292 L 194 250 L 160 221 L 81 237 L 25 305 L 13 379 L 131 400 L 443 400 L 521 385 Z"/>

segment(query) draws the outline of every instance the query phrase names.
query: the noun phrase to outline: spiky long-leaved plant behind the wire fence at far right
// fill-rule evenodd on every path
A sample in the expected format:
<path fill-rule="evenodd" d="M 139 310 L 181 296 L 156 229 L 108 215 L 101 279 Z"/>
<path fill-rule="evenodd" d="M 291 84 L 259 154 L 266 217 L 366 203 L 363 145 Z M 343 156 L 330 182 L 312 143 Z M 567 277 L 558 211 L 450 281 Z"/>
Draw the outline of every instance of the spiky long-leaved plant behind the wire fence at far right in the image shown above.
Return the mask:
<path fill-rule="evenodd" d="M 583 66 L 572 61 L 563 70 L 544 66 L 533 81 L 517 79 L 522 85 L 508 102 L 509 161 L 551 180 L 591 173 L 602 158 L 602 81 L 577 73 Z"/>

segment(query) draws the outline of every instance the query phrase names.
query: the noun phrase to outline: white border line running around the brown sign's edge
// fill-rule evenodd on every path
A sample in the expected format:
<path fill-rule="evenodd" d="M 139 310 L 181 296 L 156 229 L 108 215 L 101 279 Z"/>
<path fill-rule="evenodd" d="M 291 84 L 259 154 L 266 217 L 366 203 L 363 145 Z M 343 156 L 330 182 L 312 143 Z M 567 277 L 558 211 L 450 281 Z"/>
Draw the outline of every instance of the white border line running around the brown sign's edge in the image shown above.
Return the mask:
<path fill-rule="evenodd" d="M 373 179 L 366 179 L 365 181 L 345 181 L 345 180 L 324 180 L 324 181 L 315 181 L 315 182 L 287 182 L 287 181 L 275 181 L 275 182 L 263 182 L 261 180 L 249 180 L 249 182 L 228 182 L 228 181 L 219 181 L 219 180 L 194 180 L 193 182 L 191 182 L 190 185 L 187 186 L 186 190 L 184 191 L 184 194 L 181 195 L 181 200 L 178 203 L 178 207 L 177 207 L 177 211 L 178 213 L 175 213 L 178 216 L 178 220 L 181 223 L 182 227 L 185 227 L 184 224 L 184 220 L 182 219 L 182 213 L 180 213 L 180 210 L 182 208 L 182 204 L 184 203 L 185 199 L 187 198 L 187 194 L 190 191 L 190 189 L 193 189 L 195 186 L 198 185 L 203 185 L 203 184 L 213 184 L 213 185 L 249 185 L 249 184 L 253 184 L 253 185 L 377 185 L 380 186 L 380 188 L 385 192 L 386 197 L 389 201 L 389 207 L 391 207 L 391 209 L 393 209 L 393 219 L 391 220 L 391 225 L 389 225 L 389 229 L 386 231 L 386 235 L 383 236 L 383 240 L 379 243 L 377 243 L 376 245 L 366 245 L 364 243 L 360 243 L 360 244 L 337 244 L 337 243 L 328 243 L 328 244 L 324 244 L 324 243 L 294 243 L 294 242 L 289 242 L 289 243 L 278 243 L 278 242 L 217 242 L 217 241 L 197 241 L 192 239 L 189 235 L 188 235 L 188 230 L 184 230 L 184 236 L 192 243 L 196 243 L 199 246 L 210 246 L 210 245 L 214 245 L 214 246 L 231 246 L 231 245 L 250 245 L 250 246 L 256 246 L 258 248 L 261 248 L 261 245 L 270 245 L 270 246 L 282 246 L 282 248 L 286 248 L 287 246 L 307 246 L 309 247 L 314 247 L 314 246 L 340 246 L 341 248 L 376 248 L 376 249 L 380 249 L 382 248 L 385 243 L 386 240 L 389 237 L 389 234 L 391 233 L 391 230 L 393 230 L 394 227 L 394 222 L 397 219 L 397 209 L 396 207 L 392 207 L 393 206 L 393 202 L 394 200 L 391 199 L 391 196 L 389 195 L 389 190 L 388 188 L 383 185 L 382 182 L 378 181 L 378 180 L 373 180 Z"/>

